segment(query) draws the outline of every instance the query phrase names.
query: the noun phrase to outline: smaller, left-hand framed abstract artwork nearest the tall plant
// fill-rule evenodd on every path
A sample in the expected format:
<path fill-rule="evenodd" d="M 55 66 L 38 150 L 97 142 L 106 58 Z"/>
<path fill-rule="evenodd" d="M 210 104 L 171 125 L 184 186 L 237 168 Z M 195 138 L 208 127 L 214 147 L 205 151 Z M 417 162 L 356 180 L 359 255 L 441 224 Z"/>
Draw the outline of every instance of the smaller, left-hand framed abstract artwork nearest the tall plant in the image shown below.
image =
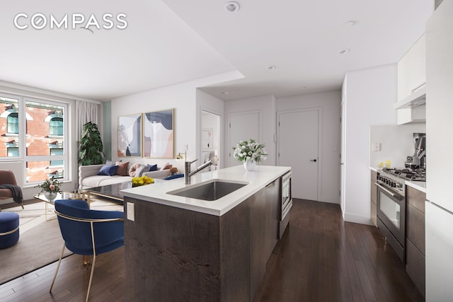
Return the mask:
<path fill-rule="evenodd" d="M 118 156 L 142 157 L 142 114 L 118 117 Z"/>

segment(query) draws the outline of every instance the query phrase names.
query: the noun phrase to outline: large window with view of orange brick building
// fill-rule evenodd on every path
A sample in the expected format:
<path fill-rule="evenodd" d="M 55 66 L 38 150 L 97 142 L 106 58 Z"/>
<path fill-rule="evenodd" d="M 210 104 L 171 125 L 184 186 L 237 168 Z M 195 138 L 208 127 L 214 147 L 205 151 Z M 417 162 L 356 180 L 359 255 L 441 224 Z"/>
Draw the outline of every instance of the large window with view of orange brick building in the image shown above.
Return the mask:
<path fill-rule="evenodd" d="M 66 103 L 0 95 L 0 161 L 25 162 L 25 184 L 56 175 L 64 178 L 68 160 Z"/>

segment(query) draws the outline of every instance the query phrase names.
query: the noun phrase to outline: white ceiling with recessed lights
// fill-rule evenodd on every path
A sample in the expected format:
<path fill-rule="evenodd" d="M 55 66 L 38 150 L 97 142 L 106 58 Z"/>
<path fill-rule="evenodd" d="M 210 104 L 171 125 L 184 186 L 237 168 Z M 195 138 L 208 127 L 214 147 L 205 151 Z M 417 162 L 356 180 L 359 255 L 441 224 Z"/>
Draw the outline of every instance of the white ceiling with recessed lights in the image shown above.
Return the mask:
<path fill-rule="evenodd" d="M 398 62 L 434 6 L 432 0 L 237 0 L 239 11 L 230 13 L 226 2 L 10 1 L 0 12 L 0 81 L 110 100 L 239 71 L 241 79 L 202 89 L 223 100 L 328 91 L 341 87 L 346 71 Z M 18 18 L 28 28 L 16 28 L 18 13 L 28 15 Z M 47 20 L 40 30 L 31 22 L 37 13 Z M 77 13 L 86 21 L 72 29 Z M 110 29 L 84 28 L 91 14 L 108 25 L 105 13 L 113 21 L 125 13 L 127 27 L 115 21 Z M 69 28 L 50 29 L 51 16 L 61 21 L 65 14 Z M 35 21 L 43 24 L 40 16 Z"/>

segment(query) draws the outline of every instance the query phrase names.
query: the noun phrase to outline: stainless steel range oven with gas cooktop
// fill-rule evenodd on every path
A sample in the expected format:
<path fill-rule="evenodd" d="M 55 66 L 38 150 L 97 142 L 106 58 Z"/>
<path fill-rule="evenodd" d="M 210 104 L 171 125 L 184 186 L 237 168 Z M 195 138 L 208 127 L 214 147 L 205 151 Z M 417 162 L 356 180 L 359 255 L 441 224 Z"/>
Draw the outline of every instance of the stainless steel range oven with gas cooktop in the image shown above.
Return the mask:
<path fill-rule="evenodd" d="M 405 263 L 406 186 L 404 180 L 386 169 L 377 173 L 377 227 L 396 255 Z"/>

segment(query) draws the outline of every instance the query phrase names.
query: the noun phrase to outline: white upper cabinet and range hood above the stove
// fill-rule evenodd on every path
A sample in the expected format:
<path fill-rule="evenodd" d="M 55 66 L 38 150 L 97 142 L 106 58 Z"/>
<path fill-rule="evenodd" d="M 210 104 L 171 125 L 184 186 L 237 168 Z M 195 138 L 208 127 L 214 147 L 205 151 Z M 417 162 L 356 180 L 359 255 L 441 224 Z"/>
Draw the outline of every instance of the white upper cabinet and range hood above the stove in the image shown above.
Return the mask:
<path fill-rule="evenodd" d="M 420 39 L 398 62 L 398 124 L 425 122 L 426 38 Z"/>

